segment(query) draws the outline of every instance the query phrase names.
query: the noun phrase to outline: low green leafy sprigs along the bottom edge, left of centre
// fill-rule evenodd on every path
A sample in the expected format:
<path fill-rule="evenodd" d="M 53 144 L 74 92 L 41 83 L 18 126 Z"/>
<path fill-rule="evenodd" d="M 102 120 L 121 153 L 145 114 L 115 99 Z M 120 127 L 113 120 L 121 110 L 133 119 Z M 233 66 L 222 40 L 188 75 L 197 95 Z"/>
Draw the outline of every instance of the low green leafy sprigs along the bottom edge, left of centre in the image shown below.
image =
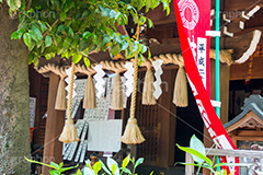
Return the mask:
<path fill-rule="evenodd" d="M 78 165 L 77 165 L 77 166 L 72 166 L 72 167 L 62 168 L 62 165 L 64 165 L 62 162 L 59 165 L 52 162 L 49 165 L 49 164 L 45 164 L 42 162 L 28 160 L 26 158 L 25 158 L 25 160 L 31 163 L 37 163 L 37 164 L 41 164 L 44 166 L 52 167 L 53 170 L 49 171 L 50 175 L 61 175 L 61 173 L 65 171 L 78 167 Z M 133 172 L 127 168 L 129 163 L 133 164 Z M 107 160 L 106 160 L 107 167 L 105 166 L 105 164 L 102 161 L 98 161 L 93 166 L 91 166 L 91 162 L 90 162 L 90 160 L 88 160 L 88 161 L 85 161 L 87 166 L 83 167 L 82 171 L 78 170 L 76 175 L 98 175 L 99 172 L 101 172 L 101 171 L 104 171 L 103 174 L 107 174 L 107 175 L 122 175 L 123 173 L 126 173 L 128 175 L 137 175 L 135 173 L 136 167 L 138 167 L 142 163 L 144 163 L 144 158 L 140 158 L 137 161 L 135 161 L 134 159 L 130 159 L 129 155 L 123 160 L 121 167 L 118 166 L 118 163 L 111 158 L 107 158 Z M 151 172 L 150 175 L 152 175 L 152 174 L 153 174 L 153 172 Z"/>

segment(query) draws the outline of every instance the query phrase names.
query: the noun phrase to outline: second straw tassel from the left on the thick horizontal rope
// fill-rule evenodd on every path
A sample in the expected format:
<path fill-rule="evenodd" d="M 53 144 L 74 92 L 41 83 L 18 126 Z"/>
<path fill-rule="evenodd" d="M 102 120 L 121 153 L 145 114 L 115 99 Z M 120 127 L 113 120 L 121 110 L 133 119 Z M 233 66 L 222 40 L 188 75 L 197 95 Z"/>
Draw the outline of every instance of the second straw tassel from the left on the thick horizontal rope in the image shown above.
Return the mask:
<path fill-rule="evenodd" d="M 87 79 L 83 108 L 96 108 L 95 86 L 91 74 Z"/>

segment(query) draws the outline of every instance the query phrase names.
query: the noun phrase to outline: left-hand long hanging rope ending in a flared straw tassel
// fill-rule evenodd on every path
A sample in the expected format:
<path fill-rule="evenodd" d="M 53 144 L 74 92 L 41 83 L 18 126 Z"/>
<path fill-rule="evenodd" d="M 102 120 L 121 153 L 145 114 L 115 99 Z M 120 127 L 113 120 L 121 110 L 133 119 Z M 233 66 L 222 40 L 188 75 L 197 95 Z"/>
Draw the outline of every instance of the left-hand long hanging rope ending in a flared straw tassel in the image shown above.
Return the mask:
<path fill-rule="evenodd" d="M 64 126 L 62 132 L 59 137 L 59 141 L 69 143 L 79 141 L 76 126 L 73 119 L 71 118 L 71 106 L 72 106 L 72 94 L 73 94 L 73 78 L 75 77 L 75 63 L 71 65 L 70 84 L 69 84 L 69 98 L 68 98 L 68 118 L 66 125 Z"/>

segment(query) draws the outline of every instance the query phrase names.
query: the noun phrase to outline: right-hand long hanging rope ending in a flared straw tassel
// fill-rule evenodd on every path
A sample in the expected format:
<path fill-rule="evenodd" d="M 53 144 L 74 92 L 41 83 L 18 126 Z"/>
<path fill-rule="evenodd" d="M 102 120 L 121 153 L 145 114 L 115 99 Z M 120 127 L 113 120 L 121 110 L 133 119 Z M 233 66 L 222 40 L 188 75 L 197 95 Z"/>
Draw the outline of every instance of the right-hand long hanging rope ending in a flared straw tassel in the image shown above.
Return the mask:
<path fill-rule="evenodd" d="M 136 31 L 136 40 L 139 39 L 140 26 L 137 26 Z M 137 79 L 138 79 L 138 55 L 136 54 L 134 60 L 134 84 L 133 84 L 133 95 L 132 95 L 132 106 L 130 106 L 130 116 L 124 135 L 122 136 L 122 142 L 126 144 L 138 144 L 145 141 L 144 136 L 140 132 L 140 129 L 137 125 L 137 119 L 135 118 L 135 107 L 136 107 L 136 95 L 137 95 Z"/>

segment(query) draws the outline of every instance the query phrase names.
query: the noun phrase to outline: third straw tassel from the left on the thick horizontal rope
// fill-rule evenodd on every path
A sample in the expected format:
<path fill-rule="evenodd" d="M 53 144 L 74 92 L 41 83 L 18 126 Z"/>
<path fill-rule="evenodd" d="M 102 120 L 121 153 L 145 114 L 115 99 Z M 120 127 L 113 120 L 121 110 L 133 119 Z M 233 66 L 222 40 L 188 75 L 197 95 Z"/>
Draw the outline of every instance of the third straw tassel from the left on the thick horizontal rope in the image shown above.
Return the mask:
<path fill-rule="evenodd" d="M 123 109 L 123 83 L 121 80 L 119 72 L 116 72 L 116 77 L 114 80 L 111 108 L 114 110 Z"/>

